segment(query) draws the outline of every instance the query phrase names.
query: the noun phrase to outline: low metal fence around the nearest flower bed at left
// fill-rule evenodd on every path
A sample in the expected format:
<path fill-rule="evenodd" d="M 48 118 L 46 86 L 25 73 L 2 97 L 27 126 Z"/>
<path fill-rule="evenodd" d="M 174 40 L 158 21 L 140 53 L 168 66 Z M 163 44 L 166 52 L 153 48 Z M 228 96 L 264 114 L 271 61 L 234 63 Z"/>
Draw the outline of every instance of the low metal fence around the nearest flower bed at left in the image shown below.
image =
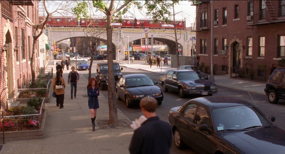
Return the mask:
<path fill-rule="evenodd" d="M 14 116 L 3 116 L 2 124 L 0 129 L 13 129 L 17 126 L 33 126 L 34 128 L 41 127 L 41 119 L 44 113 L 45 98 L 42 99 L 41 108 L 37 111 L 38 114 L 27 114 L 27 115 L 14 115 Z"/>

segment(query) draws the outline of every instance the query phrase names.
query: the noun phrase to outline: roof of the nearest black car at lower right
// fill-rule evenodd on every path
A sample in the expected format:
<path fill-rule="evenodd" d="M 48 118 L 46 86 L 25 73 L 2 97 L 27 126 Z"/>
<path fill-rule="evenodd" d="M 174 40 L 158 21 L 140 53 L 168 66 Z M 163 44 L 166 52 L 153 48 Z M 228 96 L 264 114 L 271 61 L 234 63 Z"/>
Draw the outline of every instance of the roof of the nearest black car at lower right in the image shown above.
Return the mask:
<path fill-rule="evenodd" d="M 210 108 L 223 108 L 230 106 L 251 105 L 249 102 L 230 96 L 206 96 L 198 97 L 189 101 L 198 102 Z M 189 102 L 188 101 L 188 102 Z"/>

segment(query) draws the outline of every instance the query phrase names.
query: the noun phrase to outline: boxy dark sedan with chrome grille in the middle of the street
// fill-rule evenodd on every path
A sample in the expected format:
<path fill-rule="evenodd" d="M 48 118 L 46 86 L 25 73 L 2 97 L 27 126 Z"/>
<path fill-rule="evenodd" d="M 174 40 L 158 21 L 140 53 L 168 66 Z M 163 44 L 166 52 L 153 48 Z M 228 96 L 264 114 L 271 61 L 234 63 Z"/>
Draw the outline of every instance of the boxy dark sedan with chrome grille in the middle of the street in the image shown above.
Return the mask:
<path fill-rule="evenodd" d="M 173 90 L 179 92 L 183 98 L 185 95 L 209 95 L 218 92 L 215 83 L 206 80 L 199 71 L 170 70 L 166 75 L 159 77 L 163 91 Z"/>

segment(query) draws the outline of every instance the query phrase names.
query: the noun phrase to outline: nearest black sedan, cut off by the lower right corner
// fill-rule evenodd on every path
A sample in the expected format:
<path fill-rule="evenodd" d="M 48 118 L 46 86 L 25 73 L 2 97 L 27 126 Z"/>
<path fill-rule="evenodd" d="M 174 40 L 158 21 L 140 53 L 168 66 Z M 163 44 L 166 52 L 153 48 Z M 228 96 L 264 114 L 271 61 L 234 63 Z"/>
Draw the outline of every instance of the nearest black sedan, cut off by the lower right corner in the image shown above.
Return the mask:
<path fill-rule="evenodd" d="M 229 96 L 207 96 L 170 109 L 175 146 L 200 153 L 284 153 L 285 131 L 256 106 Z"/>

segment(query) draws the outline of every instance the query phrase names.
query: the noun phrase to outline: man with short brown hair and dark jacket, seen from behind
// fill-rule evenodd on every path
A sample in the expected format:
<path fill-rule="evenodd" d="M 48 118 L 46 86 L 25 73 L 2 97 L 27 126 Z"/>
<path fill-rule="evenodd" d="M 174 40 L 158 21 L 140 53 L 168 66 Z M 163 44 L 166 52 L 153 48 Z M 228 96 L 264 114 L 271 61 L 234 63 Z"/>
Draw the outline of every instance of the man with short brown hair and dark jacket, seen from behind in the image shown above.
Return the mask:
<path fill-rule="evenodd" d="M 171 126 L 159 120 L 155 113 L 158 102 L 153 97 L 140 100 L 140 108 L 147 120 L 134 132 L 129 147 L 131 154 L 163 153 L 169 154 L 171 147 Z"/>

